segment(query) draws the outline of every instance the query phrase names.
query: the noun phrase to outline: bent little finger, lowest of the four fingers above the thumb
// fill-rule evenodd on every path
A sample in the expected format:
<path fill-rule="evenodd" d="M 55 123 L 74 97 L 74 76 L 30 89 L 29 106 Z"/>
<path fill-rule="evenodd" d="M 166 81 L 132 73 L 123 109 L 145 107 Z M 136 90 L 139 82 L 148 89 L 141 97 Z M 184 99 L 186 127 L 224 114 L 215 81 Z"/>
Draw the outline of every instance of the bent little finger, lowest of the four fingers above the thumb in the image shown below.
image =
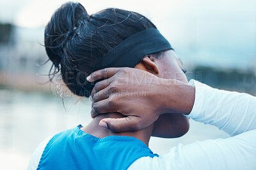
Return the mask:
<path fill-rule="evenodd" d="M 101 113 L 116 112 L 112 104 L 109 103 L 109 98 L 102 101 L 98 101 L 93 104 L 91 117 L 95 118 Z"/>

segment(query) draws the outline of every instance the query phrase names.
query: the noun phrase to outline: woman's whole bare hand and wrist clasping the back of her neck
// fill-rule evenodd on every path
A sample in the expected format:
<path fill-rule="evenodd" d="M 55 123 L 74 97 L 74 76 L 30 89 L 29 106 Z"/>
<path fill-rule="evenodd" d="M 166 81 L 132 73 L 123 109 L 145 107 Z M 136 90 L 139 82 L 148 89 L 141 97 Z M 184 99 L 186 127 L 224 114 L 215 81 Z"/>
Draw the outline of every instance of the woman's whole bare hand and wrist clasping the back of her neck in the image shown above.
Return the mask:
<path fill-rule="evenodd" d="M 143 129 L 163 113 L 188 114 L 193 107 L 195 89 L 177 80 L 166 80 L 141 69 L 122 67 L 95 71 L 88 76 L 88 81 L 102 78 L 108 79 L 97 82 L 92 90 L 92 117 L 109 112 L 127 116 L 100 121 L 100 125 L 108 126 L 114 132 Z M 191 88 L 194 94 L 184 93 Z"/>

